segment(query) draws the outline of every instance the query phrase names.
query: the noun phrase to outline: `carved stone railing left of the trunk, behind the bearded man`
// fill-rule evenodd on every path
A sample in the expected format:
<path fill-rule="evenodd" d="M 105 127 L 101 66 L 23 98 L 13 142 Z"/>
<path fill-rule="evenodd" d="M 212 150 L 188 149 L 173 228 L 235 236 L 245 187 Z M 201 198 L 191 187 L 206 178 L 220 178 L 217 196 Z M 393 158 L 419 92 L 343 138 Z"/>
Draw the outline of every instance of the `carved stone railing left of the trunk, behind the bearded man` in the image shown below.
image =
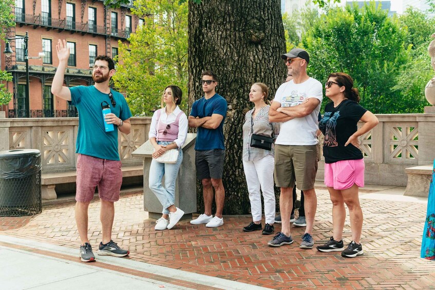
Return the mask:
<path fill-rule="evenodd" d="M 131 132 L 119 133 L 119 154 L 123 166 L 142 165 L 131 156 L 148 140 L 151 118 L 131 118 Z M 33 148 L 41 151 L 43 173 L 75 170 L 75 139 L 78 118 L 0 119 L 0 150 Z"/>

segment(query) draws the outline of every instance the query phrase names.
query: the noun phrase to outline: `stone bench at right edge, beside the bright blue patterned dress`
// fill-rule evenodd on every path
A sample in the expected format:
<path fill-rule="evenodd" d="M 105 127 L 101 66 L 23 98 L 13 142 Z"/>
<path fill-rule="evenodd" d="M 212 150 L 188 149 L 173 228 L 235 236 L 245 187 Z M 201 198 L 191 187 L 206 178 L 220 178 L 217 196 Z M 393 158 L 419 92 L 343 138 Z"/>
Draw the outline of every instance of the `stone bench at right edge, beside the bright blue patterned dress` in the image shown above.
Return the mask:
<path fill-rule="evenodd" d="M 430 181 L 432 180 L 432 165 L 415 166 L 405 169 L 408 184 L 405 196 L 428 197 Z"/>

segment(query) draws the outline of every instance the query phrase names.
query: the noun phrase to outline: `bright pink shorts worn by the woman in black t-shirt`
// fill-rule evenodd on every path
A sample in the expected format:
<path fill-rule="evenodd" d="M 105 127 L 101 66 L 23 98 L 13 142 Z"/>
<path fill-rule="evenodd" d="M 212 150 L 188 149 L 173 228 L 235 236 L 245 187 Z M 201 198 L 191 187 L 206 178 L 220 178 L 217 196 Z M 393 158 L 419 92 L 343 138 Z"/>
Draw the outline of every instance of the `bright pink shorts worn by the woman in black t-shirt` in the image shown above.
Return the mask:
<path fill-rule="evenodd" d="M 364 159 L 325 163 L 325 184 L 336 190 L 364 187 Z"/>

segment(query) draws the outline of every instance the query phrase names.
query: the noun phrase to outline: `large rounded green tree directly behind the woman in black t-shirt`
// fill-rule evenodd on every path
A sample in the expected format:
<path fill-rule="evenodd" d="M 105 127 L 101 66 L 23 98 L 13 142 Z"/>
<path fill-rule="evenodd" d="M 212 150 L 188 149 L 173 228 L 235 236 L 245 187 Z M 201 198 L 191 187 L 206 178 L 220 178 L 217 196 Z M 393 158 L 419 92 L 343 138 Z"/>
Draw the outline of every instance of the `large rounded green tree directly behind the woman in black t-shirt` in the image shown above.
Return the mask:
<path fill-rule="evenodd" d="M 331 72 L 346 72 L 360 89 L 364 107 L 374 113 L 400 113 L 406 100 L 393 88 L 408 61 L 406 39 L 407 30 L 397 18 L 371 2 L 362 9 L 330 8 L 302 36 L 302 44 L 311 52 L 314 78 L 324 82 Z"/>

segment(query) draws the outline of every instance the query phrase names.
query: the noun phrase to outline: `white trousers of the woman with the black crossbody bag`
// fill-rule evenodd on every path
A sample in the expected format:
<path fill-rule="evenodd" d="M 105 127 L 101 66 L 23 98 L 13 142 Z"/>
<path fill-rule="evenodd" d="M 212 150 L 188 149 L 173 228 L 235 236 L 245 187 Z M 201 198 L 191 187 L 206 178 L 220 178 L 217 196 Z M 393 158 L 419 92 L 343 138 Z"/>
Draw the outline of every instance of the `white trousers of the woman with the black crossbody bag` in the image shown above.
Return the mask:
<path fill-rule="evenodd" d="M 251 201 L 252 220 L 261 221 L 261 196 L 264 199 L 264 216 L 266 223 L 275 222 L 275 192 L 273 191 L 273 168 L 275 160 L 267 155 L 256 161 L 243 161 L 243 170 L 248 184 L 249 200 Z"/>

